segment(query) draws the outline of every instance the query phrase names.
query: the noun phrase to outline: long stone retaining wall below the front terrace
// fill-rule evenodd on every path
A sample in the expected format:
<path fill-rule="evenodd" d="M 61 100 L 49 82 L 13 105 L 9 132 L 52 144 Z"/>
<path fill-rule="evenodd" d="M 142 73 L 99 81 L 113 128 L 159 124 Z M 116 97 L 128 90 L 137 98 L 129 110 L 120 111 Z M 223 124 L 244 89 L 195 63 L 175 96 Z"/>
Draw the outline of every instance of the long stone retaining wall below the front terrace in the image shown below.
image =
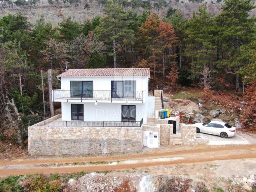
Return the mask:
<path fill-rule="evenodd" d="M 142 127 L 28 127 L 32 155 L 138 152 L 142 147 Z"/>

